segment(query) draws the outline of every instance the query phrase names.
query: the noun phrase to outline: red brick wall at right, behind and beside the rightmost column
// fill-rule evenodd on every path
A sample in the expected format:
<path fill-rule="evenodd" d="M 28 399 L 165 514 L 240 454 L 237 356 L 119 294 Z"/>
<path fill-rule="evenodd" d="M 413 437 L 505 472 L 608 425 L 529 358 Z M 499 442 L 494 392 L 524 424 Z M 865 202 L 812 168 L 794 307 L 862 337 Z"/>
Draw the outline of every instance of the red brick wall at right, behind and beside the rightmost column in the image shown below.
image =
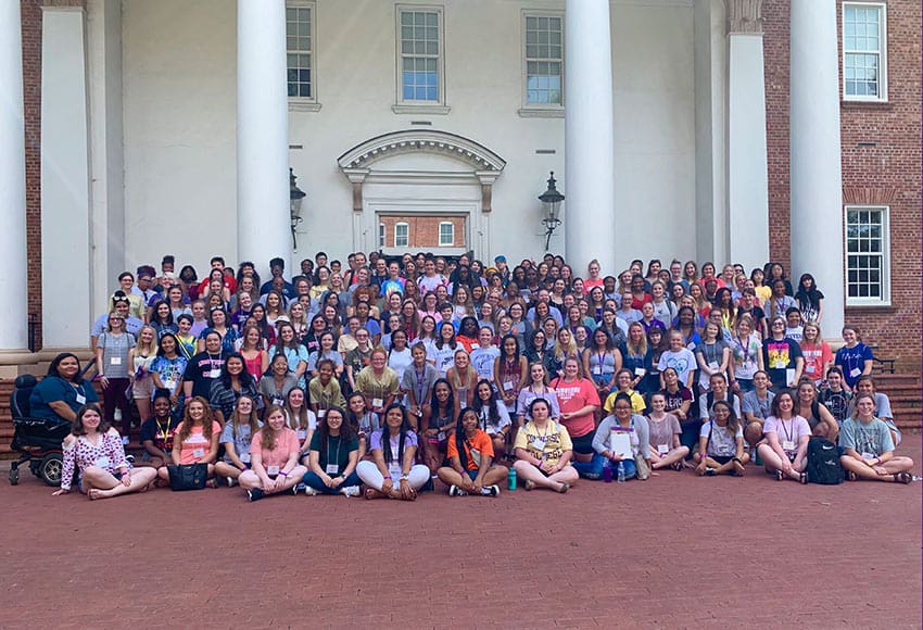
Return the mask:
<path fill-rule="evenodd" d="M 788 173 L 788 0 L 766 0 L 770 249 L 791 263 Z M 837 0 L 837 24 L 843 17 Z M 921 4 L 887 2 L 887 103 L 842 101 L 844 204 L 890 206 L 892 306 L 848 307 L 846 322 L 900 367 L 921 368 Z M 842 33 L 842 30 L 840 30 Z M 839 38 L 842 46 L 842 37 Z M 839 59 L 842 59 L 842 51 Z M 842 75 L 842 67 L 840 67 Z M 842 93 L 840 76 L 840 93 Z M 874 147 L 859 147 L 874 142 Z M 829 336 L 835 331 L 825 331 Z"/>

